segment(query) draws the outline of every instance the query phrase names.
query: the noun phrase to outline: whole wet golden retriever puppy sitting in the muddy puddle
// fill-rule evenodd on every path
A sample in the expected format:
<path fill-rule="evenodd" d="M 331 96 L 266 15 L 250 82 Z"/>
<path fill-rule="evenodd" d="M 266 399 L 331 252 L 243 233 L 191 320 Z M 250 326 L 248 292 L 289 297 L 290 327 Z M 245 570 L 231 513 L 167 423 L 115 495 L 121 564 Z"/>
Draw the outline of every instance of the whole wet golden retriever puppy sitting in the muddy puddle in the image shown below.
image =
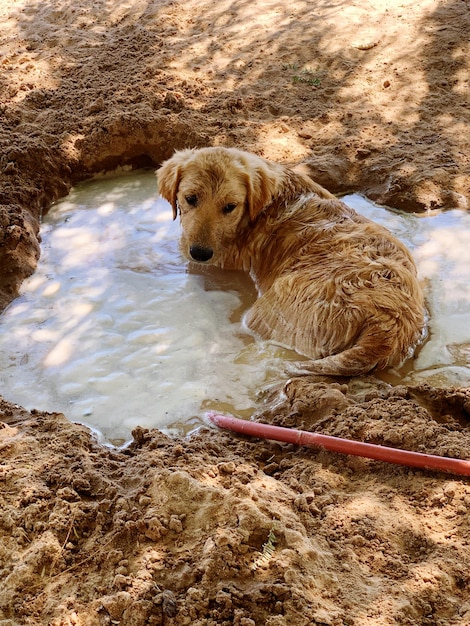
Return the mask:
<path fill-rule="evenodd" d="M 413 259 L 385 228 L 293 169 L 234 148 L 176 152 L 157 172 L 191 261 L 252 276 L 247 326 L 309 357 L 295 373 L 397 366 L 424 329 Z"/>

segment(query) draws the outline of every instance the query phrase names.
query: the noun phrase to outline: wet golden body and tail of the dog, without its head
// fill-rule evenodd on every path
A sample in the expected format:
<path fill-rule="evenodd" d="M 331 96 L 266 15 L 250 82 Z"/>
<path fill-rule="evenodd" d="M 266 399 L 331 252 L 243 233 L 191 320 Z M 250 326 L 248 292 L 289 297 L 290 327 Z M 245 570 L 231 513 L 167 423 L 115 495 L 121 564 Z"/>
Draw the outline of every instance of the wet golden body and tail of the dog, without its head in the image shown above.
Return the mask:
<path fill-rule="evenodd" d="M 287 212 L 276 220 L 268 210 L 253 229 L 261 227 L 265 245 L 253 260 L 261 293 L 247 325 L 276 342 L 288 337 L 313 359 L 302 371 L 358 375 L 399 365 L 424 328 L 407 248 L 340 200 L 309 194 Z"/>

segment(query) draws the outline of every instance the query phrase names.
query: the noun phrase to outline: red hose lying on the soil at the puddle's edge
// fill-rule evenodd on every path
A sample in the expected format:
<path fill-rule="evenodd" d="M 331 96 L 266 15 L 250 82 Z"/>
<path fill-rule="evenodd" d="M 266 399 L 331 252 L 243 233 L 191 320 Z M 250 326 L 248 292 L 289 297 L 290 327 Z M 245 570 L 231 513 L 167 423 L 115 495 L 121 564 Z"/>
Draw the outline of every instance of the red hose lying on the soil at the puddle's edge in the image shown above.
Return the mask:
<path fill-rule="evenodd" d="M 420 452 L 410 452 L 408 450 L 397 450 L 396 448 L 387 448 L 372 443 L 362 443 L 360 441 L 341 439 L 340 437 L 309 433 L 305 430 L 282 428 L 281 426 L 260 424 L 259 422 L 249 422 L 248 420 L 242 420 L 228 415 L 219 415 L 215 412 L 209 412 L 207 416 L 209 420 L 219 428 L 233 430 L 244 435 L 252 435 L 260 439 L 284 441 L 298 446 L 316 446 L 332 452 L 352 454 L 368 459 L 376 459 L 377 461 L 396 463 L 397 465 L 420 467 L 428 470 L 450 472 L 461 476 L 470 476 L 470 461 L 444 456 L 434 456 L 433 454 L 422 454 Z"/>

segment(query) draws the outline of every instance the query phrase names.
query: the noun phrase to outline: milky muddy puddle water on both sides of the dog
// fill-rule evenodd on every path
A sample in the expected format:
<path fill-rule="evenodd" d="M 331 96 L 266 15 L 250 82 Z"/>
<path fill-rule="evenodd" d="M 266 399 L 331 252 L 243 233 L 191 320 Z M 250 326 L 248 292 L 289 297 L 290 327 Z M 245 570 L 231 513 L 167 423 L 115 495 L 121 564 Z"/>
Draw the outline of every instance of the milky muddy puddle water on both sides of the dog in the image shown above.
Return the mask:
<path fill-rule="evenodd" d="M 430 336 L 392 383 L 470 384 L 470 216 L 415 217 L 345 200 L 413 250 Z M 62 411 L 103 441 L 137 426 L 186 433 L 216 408 L 248 416 L 293 352 L 245 332 L 237 272 L 189 267 L 153 173 L 78 186 L 46 216 L 37 272 L 0 318 L 0 393 Z"/>

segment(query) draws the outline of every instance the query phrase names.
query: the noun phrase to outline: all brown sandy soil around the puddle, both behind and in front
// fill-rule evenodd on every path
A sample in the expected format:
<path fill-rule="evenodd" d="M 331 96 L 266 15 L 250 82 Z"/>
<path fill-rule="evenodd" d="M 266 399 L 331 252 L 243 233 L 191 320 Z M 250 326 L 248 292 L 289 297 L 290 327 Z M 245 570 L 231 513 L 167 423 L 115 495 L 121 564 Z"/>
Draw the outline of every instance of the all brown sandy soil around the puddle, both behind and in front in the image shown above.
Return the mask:
<path fill-rule="evenodd" d="M 0 0 L 0 306 L 51 202 L 183 146 L 466 209 L 469 32 L 465 0 Z M 0 411 L 0 626 L 470 624 L 467 478 Z M 470 389 L 295 379 L 257 419 L 470 457 Z"/>

